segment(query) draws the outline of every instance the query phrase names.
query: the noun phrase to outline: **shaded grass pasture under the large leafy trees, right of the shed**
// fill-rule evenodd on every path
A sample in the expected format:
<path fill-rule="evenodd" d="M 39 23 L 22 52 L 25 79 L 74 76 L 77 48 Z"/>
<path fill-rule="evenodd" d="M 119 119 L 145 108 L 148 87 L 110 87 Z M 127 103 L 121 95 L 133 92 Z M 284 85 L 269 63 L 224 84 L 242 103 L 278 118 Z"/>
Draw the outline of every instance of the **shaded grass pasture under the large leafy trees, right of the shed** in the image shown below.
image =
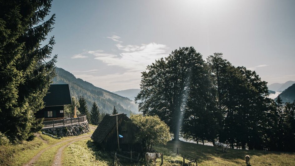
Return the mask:
<path fill-rule="evenodd" d="M 182 141 L 169 141 L 165 148 L 156 146 L 160 152 L 164 154 L 165 165 L 174 165 L 173 162 L 181 162 L 182 158 L 173 156 L 176 149 L 179 149 L 179 154 L 197 158 L 198 166 L 201 165 L 246 165 L 244 157 L 250 156 L 250 163 L 254 165 L 295 165 L 295 153 L 287 152 L 272 152 L 261 150 L 239 150 L 228 149 L 227 152 L 216 150 L 213 146 L 204 146 L 200 144 L 186 143 Z M 165 152 L 165 151 L 167 151 Z M 166 155 L 166 154 L 168 155 Z"/>

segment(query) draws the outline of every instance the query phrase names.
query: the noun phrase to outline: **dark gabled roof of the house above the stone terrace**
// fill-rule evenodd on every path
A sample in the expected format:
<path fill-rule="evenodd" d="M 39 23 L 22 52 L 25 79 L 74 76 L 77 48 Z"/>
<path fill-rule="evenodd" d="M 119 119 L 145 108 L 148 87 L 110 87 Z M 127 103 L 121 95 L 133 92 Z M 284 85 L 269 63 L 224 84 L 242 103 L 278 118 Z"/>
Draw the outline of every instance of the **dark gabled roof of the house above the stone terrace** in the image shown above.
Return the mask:
<path fill-rule="evenodd" d="M 69 84 L 51 84 L 43 101 L 45 106 L 71 105 Z"/>

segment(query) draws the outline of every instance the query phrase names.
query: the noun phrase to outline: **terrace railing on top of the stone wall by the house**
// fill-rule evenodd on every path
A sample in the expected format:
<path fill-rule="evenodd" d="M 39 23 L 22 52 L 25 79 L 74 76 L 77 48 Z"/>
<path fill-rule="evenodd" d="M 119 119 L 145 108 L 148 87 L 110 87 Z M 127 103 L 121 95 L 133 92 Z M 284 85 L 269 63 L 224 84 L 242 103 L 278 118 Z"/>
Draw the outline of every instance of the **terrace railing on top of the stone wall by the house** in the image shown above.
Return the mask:
<path fill-rule="evenodd" d="M 57 126 L 64 126 L 69 124 L 77 124 L 81 122 L 85 122 L 86 115 L 77 115 L 77 118 L 73 118 L 74 115 L 69 115 L 69 117 L 66 117 L 62 120 L 50 120 L 50 121 L 43 121 L 43 129 L 45 128 L 51 128 L 51 127 L 57 127 Z"/>

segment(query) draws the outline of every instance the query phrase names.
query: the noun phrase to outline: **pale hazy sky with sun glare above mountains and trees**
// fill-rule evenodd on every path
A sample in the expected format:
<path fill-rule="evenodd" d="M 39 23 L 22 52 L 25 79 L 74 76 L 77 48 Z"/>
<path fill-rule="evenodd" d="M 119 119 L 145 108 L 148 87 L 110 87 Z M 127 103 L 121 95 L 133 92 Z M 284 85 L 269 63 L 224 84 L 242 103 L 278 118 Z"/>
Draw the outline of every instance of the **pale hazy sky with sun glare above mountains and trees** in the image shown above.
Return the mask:
<path fill-rule="evenodd" d="M 49 36 L 57 67 L 109 91 L 140 88 L 147 65 L 184 46 L 284 83 L 295 80 L 294 8 L 292 0 L 54 0 Z"/>

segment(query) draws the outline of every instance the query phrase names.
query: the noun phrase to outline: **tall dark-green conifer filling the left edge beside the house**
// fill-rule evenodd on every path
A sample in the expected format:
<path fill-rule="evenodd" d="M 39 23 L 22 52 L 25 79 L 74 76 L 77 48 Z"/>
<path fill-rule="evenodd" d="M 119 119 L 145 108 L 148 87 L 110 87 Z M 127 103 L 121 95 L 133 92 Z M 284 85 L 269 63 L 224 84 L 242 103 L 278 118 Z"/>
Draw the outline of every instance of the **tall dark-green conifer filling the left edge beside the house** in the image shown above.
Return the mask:
<path fill-rule="evenodd" d="M 51 0 L 0 2 L 0 132 L 17 142 L 32 139 L 41 129 L 34 113 L 55 76 L 57 56 L 51 58 L 55 14 L 45 20 Z"/>

